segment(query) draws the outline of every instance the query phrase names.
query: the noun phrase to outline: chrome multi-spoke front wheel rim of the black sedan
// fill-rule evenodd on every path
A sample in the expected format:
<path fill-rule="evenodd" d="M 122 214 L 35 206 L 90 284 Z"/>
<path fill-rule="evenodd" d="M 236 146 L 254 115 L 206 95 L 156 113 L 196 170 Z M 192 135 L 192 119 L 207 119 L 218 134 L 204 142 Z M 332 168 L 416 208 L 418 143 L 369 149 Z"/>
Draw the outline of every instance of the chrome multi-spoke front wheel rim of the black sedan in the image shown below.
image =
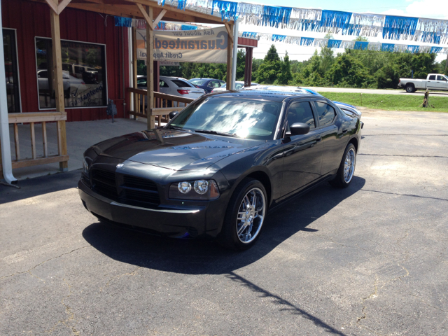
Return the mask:
<path fill-rule="evenodd" d="M 248 244 L 258 236 L 265 219 L 265 209 L 266 198 L 260 188 L 253 188 L 244 195 L 237 215 L 237 236 L 242 243 Z"/>

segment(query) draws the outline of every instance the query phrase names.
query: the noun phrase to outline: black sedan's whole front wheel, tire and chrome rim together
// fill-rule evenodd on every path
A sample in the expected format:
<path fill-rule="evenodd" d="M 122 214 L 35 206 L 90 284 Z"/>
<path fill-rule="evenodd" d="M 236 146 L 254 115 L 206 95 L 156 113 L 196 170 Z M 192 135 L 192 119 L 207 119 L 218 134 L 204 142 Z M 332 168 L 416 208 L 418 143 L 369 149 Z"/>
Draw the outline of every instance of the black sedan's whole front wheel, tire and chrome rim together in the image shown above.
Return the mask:
<path fill-rule="evenodd" d="M 265 187 L 258 180 L 244 179 L 230 198 L 218 242 L 235 251 L 251 248 L 260 237 L 266 213 Z"/>

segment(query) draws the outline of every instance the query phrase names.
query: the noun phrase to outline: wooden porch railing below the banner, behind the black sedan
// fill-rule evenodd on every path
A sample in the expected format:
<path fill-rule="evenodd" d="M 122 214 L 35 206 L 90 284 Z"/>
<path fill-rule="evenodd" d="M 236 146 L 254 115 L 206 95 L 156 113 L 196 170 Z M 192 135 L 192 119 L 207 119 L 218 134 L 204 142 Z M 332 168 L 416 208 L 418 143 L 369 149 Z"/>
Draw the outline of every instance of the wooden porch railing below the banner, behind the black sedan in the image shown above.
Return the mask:
<path fill-rule="evenodd" d="M 148 118 L 148 92 L 147 90 L 135 89 L 128 87 L 131 97 L 134 97 L 134 111 L 130 111 L 130 115 Z M 161 92 L 154 92 L 154 109 L 151 116 L 158 117 L 158 126 L 162 121 L 169 121 L 169 113 L 173 111 L 181 111 L 195 99 L 174 96 Z"/>

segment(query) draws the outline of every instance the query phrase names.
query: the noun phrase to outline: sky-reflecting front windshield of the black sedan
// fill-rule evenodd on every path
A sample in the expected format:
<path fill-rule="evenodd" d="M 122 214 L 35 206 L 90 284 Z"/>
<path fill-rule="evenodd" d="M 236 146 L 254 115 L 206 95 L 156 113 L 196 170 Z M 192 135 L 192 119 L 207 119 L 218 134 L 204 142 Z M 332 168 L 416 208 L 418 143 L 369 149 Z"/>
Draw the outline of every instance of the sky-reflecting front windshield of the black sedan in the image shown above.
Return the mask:
<path fill-rule="evenodd" d="M 281 102 L 211 96 L 188 105 L 167 127 L 216 132 L 246 139 L 271 140 Z"/>

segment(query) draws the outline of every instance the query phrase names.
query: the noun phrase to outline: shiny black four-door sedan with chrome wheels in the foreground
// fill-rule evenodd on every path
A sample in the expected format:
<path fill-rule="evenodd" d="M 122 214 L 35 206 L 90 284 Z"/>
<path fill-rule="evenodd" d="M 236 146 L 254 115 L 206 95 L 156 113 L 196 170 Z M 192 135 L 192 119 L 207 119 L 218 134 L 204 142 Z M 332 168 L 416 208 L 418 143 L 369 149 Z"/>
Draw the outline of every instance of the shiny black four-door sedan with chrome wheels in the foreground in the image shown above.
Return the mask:
<path fill-rule="evenodd" d="M 324 181 L 349 186 L 360 132 L 314 94 L 206 94 L 165 127 L 87 149 L 79 193 L 100 221 L 244 249 L 281 202 Z"/>

